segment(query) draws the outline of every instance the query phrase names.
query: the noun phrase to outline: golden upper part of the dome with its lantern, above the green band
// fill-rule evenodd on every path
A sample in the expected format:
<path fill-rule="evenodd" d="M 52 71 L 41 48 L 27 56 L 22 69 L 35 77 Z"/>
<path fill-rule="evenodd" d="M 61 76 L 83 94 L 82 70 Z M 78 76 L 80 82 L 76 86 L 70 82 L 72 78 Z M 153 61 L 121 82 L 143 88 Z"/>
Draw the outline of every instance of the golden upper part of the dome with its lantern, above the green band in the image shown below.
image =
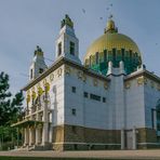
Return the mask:
<path fill-rule="evenodd" d="M 112 49 L 124 49 L 125 51 L 137 53 L 138 56 L 141 56 L 141 52 L 136 43 L 128 36 L 118 34 L 115 22 L 109 19 L 105 34 L 89 46 L 84 59 L 89 58 L 91 55 L 94 55 L 96 52 L 101 53 L 104 52 L 104 50 L 112 51 Z"/>

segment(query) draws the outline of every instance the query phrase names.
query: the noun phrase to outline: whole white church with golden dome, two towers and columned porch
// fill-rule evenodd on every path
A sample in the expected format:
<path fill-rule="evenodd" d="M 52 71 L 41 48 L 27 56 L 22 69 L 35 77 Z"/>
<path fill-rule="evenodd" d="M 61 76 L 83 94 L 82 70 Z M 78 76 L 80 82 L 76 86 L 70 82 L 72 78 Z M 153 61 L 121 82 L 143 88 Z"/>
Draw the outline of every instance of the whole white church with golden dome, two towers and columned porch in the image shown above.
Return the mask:
<path fill-rule="evenodd" d="M 25 117 L 13 124 L 23 131 L 22 148 L 160 147 L 160 77 L 146 69 L 137 44 L 119 34 L 112 18 L 81 61 L 74 22 L 66 15 L 54 63 L 46 66 L 37 46 L 23 91 Z"/>

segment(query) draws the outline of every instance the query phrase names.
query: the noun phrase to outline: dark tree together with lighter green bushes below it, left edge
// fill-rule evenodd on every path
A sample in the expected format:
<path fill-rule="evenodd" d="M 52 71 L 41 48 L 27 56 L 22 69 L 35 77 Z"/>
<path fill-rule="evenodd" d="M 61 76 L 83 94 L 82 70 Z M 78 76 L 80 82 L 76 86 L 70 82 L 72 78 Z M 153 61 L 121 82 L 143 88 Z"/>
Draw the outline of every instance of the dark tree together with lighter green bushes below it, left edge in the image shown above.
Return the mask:
<path fill-rule="evenodd" d="M 18 133 L 11 124 L 23 112 L 23 92 L 19 91 L 12 96 L 9 89 L 9 75 L 0 72 L 0 150 L 13 148 Z"/>

